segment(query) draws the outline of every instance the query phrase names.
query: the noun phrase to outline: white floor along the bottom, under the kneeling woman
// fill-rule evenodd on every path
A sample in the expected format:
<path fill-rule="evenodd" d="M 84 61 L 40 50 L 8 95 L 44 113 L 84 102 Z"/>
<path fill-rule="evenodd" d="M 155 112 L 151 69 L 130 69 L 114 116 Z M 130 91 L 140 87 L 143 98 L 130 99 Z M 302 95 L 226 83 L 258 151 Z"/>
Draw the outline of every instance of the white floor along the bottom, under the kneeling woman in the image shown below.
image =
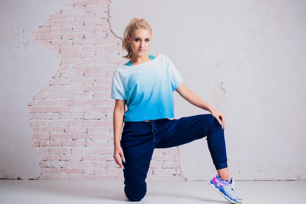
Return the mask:
<path fill-rule="evenodd" d="M 244 204 L 305 204 L 306 181 L 236 181 Z M 208 181 L 148 181 L 136 204 L 228 204 Z M 123 181 L 0 180 L 0 204 L 132 204 Z"/>

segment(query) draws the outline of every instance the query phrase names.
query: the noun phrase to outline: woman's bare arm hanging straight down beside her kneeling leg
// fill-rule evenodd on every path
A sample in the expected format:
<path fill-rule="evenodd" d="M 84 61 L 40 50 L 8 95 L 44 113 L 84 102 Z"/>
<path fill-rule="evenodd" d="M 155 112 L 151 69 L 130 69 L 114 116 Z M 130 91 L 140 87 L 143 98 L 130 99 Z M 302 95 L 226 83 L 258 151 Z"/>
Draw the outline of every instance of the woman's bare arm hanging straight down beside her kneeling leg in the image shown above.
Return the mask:
<path fill-rule="evenodd" d="M 114 108 L 114 115 L 113 115 L 113 128 L 114 128 L 114 159 L 116 163 L 121 167 L 124 168 L 121 162 L 121 159 L 125 162 L 125 158 L 123 155 L 122 148 L 120 146 L 120 138 L 121 138 L 121 131 L 123 126 L 123 117 L 125 113 L 125 101 L 123 100 L 116 100 L 115 108 Z M 121 157 L 121 159 L 119 158 Z"/>

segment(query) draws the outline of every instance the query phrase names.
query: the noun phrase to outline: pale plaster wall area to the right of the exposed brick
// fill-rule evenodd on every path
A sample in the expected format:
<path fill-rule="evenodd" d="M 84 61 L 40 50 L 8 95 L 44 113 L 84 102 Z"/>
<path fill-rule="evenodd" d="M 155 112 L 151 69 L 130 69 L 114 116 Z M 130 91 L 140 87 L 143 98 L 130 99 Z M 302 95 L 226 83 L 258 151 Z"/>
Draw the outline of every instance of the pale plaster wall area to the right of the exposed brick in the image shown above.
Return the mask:
<path fill-rule="evenodd" d="M 185 84 L 226 115 L 236 180 L 306 179 L 305 0 L 111 0 L 113 32 L 133 17 L 153 27 Z M 176 117 L 205 113 L 175 94 Z M 215 174 L 205 140 L 179 147 L 187 180 Z"/>

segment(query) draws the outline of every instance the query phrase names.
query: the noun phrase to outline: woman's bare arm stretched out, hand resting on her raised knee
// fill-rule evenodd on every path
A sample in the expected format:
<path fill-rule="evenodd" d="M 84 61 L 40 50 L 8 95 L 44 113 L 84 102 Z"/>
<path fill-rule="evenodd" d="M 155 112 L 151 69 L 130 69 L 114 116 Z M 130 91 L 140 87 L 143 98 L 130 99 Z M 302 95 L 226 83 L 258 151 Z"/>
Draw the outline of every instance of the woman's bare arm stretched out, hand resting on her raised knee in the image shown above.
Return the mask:
<path fill-rule="evenodd" d="M 224 114 L 220 113 L 216 109 L 214 109 L 212 106 L 210 106 L 208 103 L 200 99 L 196 93 L 188 89 L 184 83 L 181 83 L 179 87 L 176 89 L 178 94 L 182 96 L 186 101 L 191 103 L 194 106 L 197 106 L 200 109 L 209 111 L 214 118 L 218 120 L 218 122 L 221 124 L 222 129 L 225 128 L 225 118 Z"/>

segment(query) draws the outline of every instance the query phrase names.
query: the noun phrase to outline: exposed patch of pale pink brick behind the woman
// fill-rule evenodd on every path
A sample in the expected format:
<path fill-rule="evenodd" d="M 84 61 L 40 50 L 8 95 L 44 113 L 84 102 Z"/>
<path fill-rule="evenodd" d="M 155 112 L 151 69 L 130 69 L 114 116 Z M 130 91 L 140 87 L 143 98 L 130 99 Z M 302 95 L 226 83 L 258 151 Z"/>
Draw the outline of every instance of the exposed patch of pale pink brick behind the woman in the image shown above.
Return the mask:
<path fill-rule="evenodd" d="M 75 0 L 33 32 L 58 53 L 49 85 L 29 103 L 40 179 L 123 180 L 113 154 L 111 79 L 126 63 L 122 41 L 109 30 L 108 0 Z M 124 28 L 122 28 L 124 29 Z M 183 180 L 178 148 L 156 149 L 148 179 Z"/>

